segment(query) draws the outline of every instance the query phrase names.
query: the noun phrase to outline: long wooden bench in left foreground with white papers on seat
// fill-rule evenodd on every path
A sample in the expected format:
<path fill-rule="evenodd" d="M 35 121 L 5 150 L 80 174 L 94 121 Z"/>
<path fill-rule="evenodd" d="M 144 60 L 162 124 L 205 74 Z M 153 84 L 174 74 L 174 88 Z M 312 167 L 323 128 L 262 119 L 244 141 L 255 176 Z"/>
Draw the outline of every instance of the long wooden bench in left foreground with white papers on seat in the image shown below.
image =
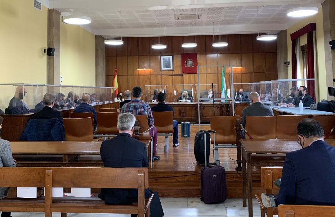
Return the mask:
<path fill-rule="evenodd" d="M 148 168 L 2 167 L 0 174 L 4 174 L 0 178 L 1 186 L 46 187 L 45 197 L 1 199 L 0 211 L 45 212 L 48 217 L 53 212 L 61 212 L 63 217 L 68 212 L 138 214 L 140 217 L 150 213 L 153 194 L 144 199 L 144 189 L 149 187 Z M 52 187 L 137 188 L 138 201 L 130 205 L 106 205 L 97 194 L 90 198 L 53 198 Z"/>

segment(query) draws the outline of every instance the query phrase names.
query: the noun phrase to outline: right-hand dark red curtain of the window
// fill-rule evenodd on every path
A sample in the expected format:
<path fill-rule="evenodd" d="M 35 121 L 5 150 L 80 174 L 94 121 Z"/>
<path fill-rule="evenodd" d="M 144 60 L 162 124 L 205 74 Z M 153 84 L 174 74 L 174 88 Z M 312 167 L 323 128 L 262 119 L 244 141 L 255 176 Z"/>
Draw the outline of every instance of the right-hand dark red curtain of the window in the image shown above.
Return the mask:
<path fill-rule="evenodd" d="M 314 39 L 313 31 L 307 33 L 307 78 L 315 78 L 314 74 Z M 315 102 L 314 80 L 307 81 L 307 91 Z"/>

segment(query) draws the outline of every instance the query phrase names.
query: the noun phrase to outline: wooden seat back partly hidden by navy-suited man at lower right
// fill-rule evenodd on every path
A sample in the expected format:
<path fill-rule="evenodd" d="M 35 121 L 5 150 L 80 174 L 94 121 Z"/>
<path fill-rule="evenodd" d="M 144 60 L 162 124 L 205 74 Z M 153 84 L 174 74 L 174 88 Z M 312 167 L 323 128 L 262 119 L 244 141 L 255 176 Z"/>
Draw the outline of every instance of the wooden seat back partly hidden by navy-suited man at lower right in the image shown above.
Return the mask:
<path fill-rule="evenodd" d="M 267 194 L 272 194 L 272 189 L 279 189 L 274 185 L 274 181 L 281 178 L 282 167 L 262 167 L 261 168 L 261 184 L 266 189 Z"/>

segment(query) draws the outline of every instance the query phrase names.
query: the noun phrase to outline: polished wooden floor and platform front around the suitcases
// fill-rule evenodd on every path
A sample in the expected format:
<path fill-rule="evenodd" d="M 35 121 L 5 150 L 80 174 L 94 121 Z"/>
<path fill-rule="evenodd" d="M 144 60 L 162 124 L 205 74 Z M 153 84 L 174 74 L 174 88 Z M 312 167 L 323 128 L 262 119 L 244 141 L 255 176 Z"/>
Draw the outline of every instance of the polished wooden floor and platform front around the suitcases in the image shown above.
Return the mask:
<path fill-rule="evenodd" d="M 200 129 L 209 130 L 210 125 L 200 125 Z M 179 146 L 173 147 L 169 138 L 169 152 L 164 153 L 164 137 L 158 137 L 156 155 L 160 160 L 154 161 L 149 173 L 150 188 L 159 192 L 161 197 L 197 198 L 200 197 L 200 170 L 194 157 L 194 138 L 199 125 L 191 125 L 191 136 L 181 137 L 179 124 Z M 212 137 L 213 139 L 213 137 Z M 213 146 L 210 146 L 210 162 L 213 162 Z M 242 174 L 237 172 L 236 148 L 219 149 L 221 166 L 226 170 L 227 197 L 242 198 Z M 253 169 L 253 191 L 260 194 L 260 169 Z"/>

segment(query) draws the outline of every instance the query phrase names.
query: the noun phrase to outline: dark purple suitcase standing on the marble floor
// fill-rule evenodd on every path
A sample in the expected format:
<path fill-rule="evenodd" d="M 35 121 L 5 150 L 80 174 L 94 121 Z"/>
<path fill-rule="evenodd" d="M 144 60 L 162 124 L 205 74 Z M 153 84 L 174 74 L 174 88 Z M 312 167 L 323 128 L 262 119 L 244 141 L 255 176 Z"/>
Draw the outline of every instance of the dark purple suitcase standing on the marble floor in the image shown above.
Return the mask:
<path fill-rule="evenodd" d="M 222 203 L 227 199 L 226 173 L 222 166 L 209 163 L 201 168 L 201 201 L 206 204 Z"/>

